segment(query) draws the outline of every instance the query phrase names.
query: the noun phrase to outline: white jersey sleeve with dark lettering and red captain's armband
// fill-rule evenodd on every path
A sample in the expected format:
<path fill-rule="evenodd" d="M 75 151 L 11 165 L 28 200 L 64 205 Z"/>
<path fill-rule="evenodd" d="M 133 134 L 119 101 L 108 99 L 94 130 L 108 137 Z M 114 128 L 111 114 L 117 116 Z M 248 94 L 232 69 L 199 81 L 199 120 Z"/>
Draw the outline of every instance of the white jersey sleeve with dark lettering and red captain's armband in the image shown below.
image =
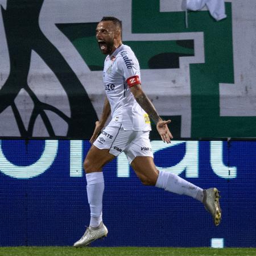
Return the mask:
<path fill-rule="evenodd" d="M 139 62 L 133 52 L 122 51 L 118 61 L 118 69 L 129 87 L 141 84 Z"/>

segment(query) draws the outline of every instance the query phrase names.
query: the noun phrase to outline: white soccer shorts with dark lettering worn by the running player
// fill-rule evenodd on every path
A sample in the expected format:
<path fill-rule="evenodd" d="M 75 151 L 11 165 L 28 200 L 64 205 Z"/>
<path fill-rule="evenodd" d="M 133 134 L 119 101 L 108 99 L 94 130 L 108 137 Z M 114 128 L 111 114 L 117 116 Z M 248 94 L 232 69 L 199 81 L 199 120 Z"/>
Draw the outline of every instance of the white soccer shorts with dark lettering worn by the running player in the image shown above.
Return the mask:
<path fill-rule="evenodd" d="M 136 156 L 154 158 L 149 133 L 149 131 L 125 131 L 122 126 L 106 126 L 93 144 L 99 149 L 109 149 L 110 154 L 114 156 L 124 152 L 131 163 Z"/>

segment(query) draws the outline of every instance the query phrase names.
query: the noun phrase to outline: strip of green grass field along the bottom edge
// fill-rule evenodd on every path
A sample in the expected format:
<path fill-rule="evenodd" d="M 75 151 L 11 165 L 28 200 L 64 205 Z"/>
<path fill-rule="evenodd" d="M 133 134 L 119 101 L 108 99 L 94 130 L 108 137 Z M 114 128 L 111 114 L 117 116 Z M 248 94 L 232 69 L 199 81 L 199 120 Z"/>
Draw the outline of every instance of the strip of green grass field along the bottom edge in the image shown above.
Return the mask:
<path fill-rule="evenodd" d="M 0 256 L 256 256 L 256 248 L 172 248 L 172 247 L 0 247 Z"/>

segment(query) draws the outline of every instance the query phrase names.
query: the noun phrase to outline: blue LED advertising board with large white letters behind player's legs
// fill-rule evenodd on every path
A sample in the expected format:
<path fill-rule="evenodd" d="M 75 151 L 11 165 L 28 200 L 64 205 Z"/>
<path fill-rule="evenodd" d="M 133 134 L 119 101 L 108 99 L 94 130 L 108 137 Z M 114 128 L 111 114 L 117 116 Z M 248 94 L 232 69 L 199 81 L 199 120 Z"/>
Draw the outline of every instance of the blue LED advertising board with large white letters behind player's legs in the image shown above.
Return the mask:
<path fill-rule="evenodd" d="M 0 141 L 0 246 L 67 246 L 89 224 L 88 141 Z M 221 191 L 217 228 L 188 196 L 144 187 L 125 155 L 104 168 L 105 240 L 94 246 L 256 246 L 256 141 L 152 141 L 155 164 Z"/>

